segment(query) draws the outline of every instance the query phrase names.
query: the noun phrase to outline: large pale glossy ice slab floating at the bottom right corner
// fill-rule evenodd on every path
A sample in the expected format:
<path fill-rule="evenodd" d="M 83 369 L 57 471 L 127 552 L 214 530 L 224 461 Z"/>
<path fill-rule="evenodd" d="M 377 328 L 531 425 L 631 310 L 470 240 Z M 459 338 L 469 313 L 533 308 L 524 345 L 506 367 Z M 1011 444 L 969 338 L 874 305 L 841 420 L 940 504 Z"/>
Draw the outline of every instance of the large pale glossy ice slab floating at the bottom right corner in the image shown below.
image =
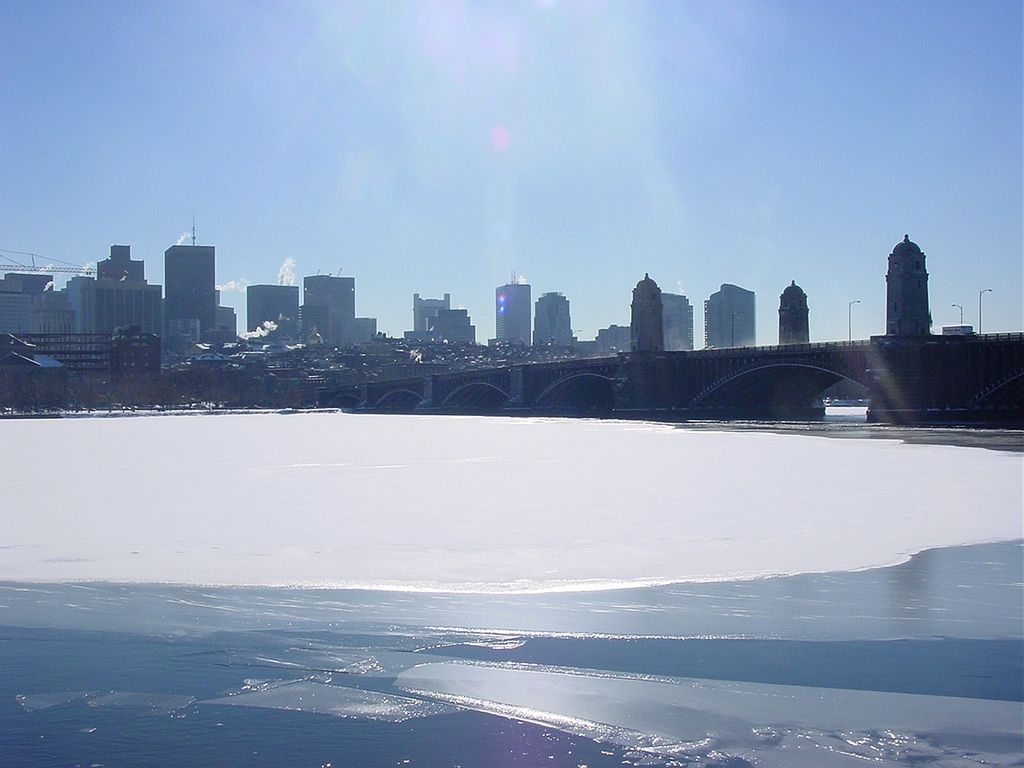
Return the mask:
<path fill-rule="evenodd" d="M 687 765 L 855 766 L 864 761 L 1008 765 L 1021 759 L 1024 707 L 905 693 L 429 664 L 407 691 Z M 727 762 L 742 759 L 749 762 Z"/>

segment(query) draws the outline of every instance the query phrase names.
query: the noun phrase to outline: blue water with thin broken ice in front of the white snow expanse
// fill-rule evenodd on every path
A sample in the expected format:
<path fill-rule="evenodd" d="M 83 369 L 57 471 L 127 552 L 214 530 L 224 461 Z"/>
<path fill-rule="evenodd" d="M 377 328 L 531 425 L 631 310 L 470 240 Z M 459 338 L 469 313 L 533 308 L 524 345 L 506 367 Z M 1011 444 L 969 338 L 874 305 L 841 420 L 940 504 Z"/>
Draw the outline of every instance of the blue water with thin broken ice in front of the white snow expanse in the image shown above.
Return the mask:
<path fill-rule="evenodd" d="M 0 765 L 1020 765 L 1021 582 L 1014 542 L 539 595 L 2 584 Z"/>

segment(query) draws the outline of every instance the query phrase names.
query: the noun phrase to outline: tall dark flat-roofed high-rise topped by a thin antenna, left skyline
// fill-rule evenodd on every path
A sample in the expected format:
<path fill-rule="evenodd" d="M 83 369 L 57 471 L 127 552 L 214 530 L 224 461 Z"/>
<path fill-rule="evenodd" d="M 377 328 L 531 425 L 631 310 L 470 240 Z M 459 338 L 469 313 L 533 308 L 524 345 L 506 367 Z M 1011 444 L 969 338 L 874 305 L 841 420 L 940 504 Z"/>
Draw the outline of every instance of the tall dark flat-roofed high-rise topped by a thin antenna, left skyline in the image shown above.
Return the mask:
<path fill-rule="evenodd" d="M 216 254 L 213 246 L 171 246 L 164 251 L 164 319 L 168 329 L 217 327 Z M 173 339 L 168 339 L 173 344 Z"/>

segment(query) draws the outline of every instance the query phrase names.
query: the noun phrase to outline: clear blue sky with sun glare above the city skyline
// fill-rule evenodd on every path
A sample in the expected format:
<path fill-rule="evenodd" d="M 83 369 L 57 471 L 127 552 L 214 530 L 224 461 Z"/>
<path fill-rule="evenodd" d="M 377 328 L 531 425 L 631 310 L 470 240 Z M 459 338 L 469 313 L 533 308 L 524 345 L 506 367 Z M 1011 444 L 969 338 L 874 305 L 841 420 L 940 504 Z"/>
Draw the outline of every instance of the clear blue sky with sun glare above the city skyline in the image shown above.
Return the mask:
<path fill-rule="evenodd" d="M 977 325 L 990 288 L 983 330 L 1019 332 L 1021 8 L 11 0 L 0 249 L 127 244 L 163 284 L 195 216 L 240 327 L 244 286 L 292 259 L 354 276 L 392 335 L 451 293 L 480 341 L 513 272 L 582 339 L 628 325 L 649 272 L 699 346 L 723 283 L 756 292 L 761 344 L 791 281 L 812 341 L 884 333 L 909 233 L 933 330 L 953 304 Z"/>

